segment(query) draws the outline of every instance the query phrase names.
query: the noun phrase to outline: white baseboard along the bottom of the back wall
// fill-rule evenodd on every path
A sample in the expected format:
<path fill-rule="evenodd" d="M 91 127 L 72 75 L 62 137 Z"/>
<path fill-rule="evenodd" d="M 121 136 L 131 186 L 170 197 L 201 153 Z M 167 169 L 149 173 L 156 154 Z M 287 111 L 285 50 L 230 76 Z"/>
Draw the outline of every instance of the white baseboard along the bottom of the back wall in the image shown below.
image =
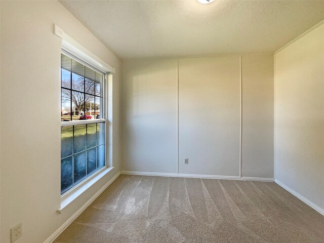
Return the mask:
<path fill-rule="evenodd" d="M 138 172 L 138 171 L 121 171 L 121 174 L 124 174 L 124 175 L 141 175 L 141 176 L 169 176 L 169 177 L 208 178 L 208 179 L 225 179 L 225 180 L 241 180 L 241 181 L 267 181 L 267 182 L 273 182 L 274 181 L 273 178 L 192 175 L 192 174 Z"/>

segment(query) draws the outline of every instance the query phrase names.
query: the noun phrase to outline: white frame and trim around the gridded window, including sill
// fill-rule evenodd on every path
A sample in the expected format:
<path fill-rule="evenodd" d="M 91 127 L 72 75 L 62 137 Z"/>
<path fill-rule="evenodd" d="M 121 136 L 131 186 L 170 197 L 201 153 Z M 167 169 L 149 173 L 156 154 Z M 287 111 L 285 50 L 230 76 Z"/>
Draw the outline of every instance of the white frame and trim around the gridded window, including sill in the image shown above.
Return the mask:
<path fill-rule="evenodd" d="M 104 87 L 103 87 L 103 97 L 104 97 L 104 116 L 102 119 L 94 119 L 94 120 L 77 120 L 77 121 L 61 121 L 61 126 L 67 125 L 80 125 L 80 124 L 91 124 L 91 123 L 105 123 L 105 166 L 83 181 L 79 182 L 63 194 L 61 194 L 61 205 L 57 210 L 58 213 L 62 213 L 62 211 L 67 208 L 74 199 L 76 199 L 79 195 L 83 194 L 90 186 L 95 184 L 98 180 L 100 180 L 104 175 L 109 173 L 114 167 L 108 164 L 108 139 L 107 139 L 107 130 L 108 130 L 108 80 L 111 80 L 111 76 L 115 73 L 115 68 L 108 65 L 106 62 L 101 60 L 99 57 L 91 53 L 88 49 L 74 41 L 73 38 L 64 33 L 64 31 L 54 24 L 54 34 L 59 36 L 62 39 L 62 47 L 61 49 L 64 52 L 67 52 L 72 55 L 71 58 L 74 59 L 76 57 L 78 60 L 82 61 L 81 63 L 92 68 L 97 69 L 101 73 L 105 73 L 104 75 Z M 64 55 L 66 55 L 64 52 Z M 59 55 L 61 55 L 61 53 Z M 87 65 L 88 64 L 88 65 Z M 89 66 L 90 65 L 90 66 Z M 110 139 L 109 139 L 110 140 Z"/>

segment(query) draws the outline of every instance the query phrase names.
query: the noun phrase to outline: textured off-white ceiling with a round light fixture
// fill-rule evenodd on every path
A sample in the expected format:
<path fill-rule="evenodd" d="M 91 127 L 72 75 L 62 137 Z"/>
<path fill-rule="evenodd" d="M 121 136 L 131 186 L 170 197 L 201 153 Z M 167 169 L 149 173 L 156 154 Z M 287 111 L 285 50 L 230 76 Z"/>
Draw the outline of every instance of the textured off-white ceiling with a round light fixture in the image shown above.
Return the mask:
<path fill-rule="evenodd" d="M 273 53 L 324 1 L 60 1 L 119 58 Z"/>

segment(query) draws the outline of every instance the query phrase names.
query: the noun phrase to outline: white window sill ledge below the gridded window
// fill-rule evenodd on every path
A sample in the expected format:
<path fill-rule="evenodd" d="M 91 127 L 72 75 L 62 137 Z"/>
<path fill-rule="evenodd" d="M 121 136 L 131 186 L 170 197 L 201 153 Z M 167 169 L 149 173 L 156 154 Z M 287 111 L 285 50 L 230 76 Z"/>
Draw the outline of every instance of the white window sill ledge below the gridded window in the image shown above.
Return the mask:
<path fill-rule="evenodd" d="M 78 198 L 81 194 L 83 194 L 89 187 L 99 181 L 103 176 L 105 176 L 109 171 L 111 171 L 113 167 L 105 167 L 101 170 L 97 171 L 83 182 L 80 182 L 75 187 L 71 188 L 69 191 L 65 192 L 61 196 L 61 206 L 56 211 L 58 213 L 62 213 L 64 209 L 66 209 L 74 199 Z"/>

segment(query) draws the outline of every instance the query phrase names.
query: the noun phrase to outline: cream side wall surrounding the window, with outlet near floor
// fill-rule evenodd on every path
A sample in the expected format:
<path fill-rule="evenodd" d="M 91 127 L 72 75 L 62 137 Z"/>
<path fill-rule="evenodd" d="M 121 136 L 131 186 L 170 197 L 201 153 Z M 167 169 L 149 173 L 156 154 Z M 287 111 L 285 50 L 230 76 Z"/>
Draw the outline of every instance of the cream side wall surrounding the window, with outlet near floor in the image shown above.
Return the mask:
<path fill-rule="evenodd" d="M 116 68 L 111 173 L 62 214 L 60 52 L 53 23 Z M 57 1 L 1 1 L 1 242 L 43 242 L 119 171 L 119 60 Z M 110 134 L 111 135 L 111 134 Z"/>

